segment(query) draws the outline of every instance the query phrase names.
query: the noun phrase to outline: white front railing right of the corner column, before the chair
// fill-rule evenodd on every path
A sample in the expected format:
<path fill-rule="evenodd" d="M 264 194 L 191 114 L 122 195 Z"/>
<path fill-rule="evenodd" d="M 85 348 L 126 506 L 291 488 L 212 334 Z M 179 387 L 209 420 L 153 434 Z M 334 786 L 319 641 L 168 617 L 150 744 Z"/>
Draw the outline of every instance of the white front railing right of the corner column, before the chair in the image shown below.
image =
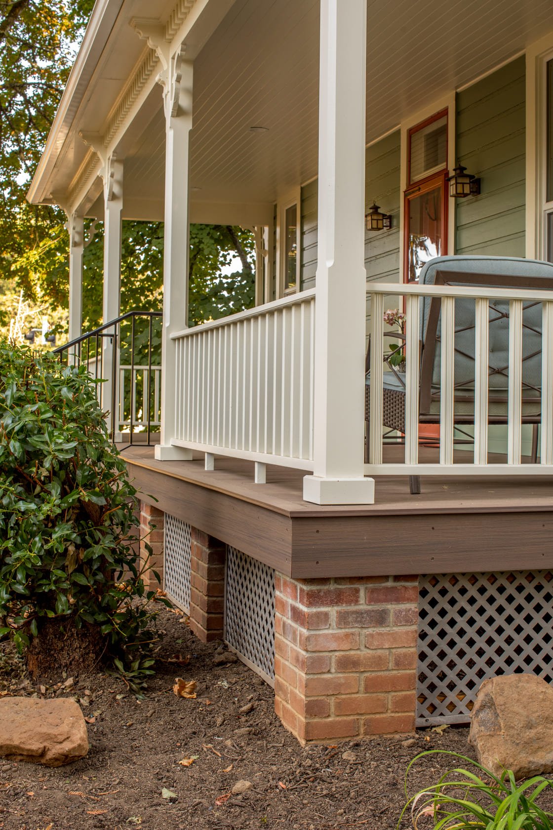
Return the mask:
<path fill-rule="evenodd" d="M 371 419 L 369 463 L 374 475 L 550 475 L 553 473 L 553 295 L 551 291 L 488 286 L 385 285 L 371 295 Z M 385 352 L 384 298 L 405 296 L 405 463 L 385 463 L 382 457 L 383 382 Z M 419 462 L 420 303 L 441 298 L 439 463 Z M 455 300 L 474 300 L 474 462 L 454 463 L 454 322 Z M 489 303 L 507 302 L 508 382 L 507 460 L 488 463 Z M 521 463 L 522 363 L 524 304 L 541 304 L 541 458 Z M 399 305 L 399 304 L 398 304 Z M 507 321 L 504 320 L 505 325 Z M 534 334 L 539 334 L 534 330 Z M 539 353 L 538 353 L 539 354 Z"/>

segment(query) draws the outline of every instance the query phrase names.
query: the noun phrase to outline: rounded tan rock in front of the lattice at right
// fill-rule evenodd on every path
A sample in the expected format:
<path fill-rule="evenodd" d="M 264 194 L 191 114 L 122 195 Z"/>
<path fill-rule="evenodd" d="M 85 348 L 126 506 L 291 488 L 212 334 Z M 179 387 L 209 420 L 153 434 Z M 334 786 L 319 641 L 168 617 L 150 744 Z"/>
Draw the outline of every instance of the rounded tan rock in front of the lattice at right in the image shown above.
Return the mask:
<path fill-rule="evenodd" d="M 478 690 L 468 741 L 494 774 L 553 772 L 553 688 L 531 674 L 492 677 Z"/>

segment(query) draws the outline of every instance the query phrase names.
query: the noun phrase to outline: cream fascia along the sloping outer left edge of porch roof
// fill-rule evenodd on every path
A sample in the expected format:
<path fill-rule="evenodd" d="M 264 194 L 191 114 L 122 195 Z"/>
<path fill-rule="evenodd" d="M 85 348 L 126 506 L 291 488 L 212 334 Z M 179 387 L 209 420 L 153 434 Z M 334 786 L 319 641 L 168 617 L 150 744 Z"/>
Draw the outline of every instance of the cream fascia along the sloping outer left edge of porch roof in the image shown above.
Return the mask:
<path fill-rule="evenodd" d="M 51 170 L 65 143 L 70 126 L 79 109 L 90 78 L 98 64 L 114 23 L 119 16 L 124 0 L 96 0 L 90 21 L 86 27 L 85 37 L 81 43 L 75 64 L 61 96 L 56 117 L 46 139 L 46 147 L 36 168 L 27 199 L 31 203 L 40 203 L 45 196 Z"/>

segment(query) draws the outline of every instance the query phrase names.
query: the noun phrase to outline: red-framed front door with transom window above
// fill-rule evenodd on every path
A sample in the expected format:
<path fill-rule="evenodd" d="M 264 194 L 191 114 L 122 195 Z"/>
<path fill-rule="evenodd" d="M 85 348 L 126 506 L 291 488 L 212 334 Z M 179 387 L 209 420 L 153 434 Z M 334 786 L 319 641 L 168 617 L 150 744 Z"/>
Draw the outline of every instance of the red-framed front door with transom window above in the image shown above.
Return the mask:
<path fill-rule="evenodd" d="M 408 132 L 405 190 L 405 282 L 417 282 L 424 263 L 447 253 L 448 111 Z"/>

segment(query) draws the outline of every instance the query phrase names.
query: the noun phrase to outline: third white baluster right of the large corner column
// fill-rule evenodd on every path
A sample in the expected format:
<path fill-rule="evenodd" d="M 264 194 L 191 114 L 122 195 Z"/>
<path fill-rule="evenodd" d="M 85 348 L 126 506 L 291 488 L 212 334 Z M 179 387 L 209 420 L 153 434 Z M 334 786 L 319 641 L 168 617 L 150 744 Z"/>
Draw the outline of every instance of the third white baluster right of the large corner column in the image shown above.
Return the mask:
<path fill-rule="evenodd" d="M 439 463 L 454 462 L 455 298 L 443 297 L 441 309 L 439 393 Z"/>

